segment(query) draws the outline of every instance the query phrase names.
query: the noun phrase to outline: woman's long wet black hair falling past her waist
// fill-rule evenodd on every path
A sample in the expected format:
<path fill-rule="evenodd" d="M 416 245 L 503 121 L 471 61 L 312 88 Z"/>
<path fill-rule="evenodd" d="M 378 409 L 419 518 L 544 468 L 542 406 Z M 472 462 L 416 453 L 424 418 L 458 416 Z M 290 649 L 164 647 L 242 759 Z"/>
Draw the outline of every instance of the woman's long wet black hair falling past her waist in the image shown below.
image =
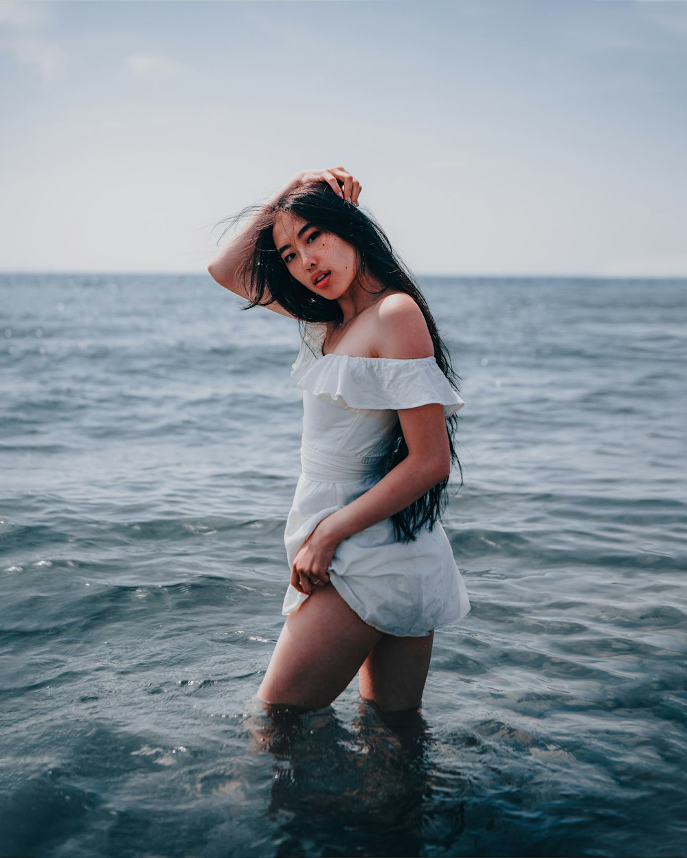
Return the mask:
<path fill-rule="evenodd" d="M 363 263 L 365 272 L 375 281 L 384 284 L 384 291 L 392 289 L 410 295 L 423 313 L 429 335 L 435 348 L 435 360 L 441 372 L 456 390 L 459 377 L 453 372 L 451 357 L 439 335 L 434 317 L 429 311 L 423 293 L 417 287 L 410 271 L 398 259 L 386 233 L 369 215 L 357 206 L 337 196 L 326 182 L 303 184 L 265 206 L 244 209 L 233 221 L 252 214 L 251 234 L 246 243 L 248 250 L 240 266 L 246 293 L 251 296 L 245 310 L 277 302 L 303 322 L 343 321 L 337 301 L 325 299 L 299 283 L 284 265 L 272 237 L 277 215 L 291 212 L 324 233 L 334 233 L 356 249 L 358 274 Z M 452 414 L 447 419 L 448 444 L 451 462 L 459 468 L 460 486 L 463 485 L 463 468 L 455 450 L 455 434 L 459 418 Z M 393 426 L 380 460 L 380 475 L 388 473 L 408 455 L 400 422 Z M 431 530 L 447 502 L 448 478 L 437 483 L 429 492 L 404 510 L 392 516 L 394 535 L 400 542 L 415 541 L 423 529 Z"/>

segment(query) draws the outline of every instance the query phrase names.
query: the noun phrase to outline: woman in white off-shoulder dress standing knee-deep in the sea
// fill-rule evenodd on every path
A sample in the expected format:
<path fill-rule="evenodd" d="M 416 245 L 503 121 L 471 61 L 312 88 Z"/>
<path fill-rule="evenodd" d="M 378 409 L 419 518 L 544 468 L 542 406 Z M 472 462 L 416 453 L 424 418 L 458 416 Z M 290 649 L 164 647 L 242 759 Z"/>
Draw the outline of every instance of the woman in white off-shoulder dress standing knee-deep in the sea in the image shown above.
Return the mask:
<path fill-rule="evenodd" d="M 470 609 L 437 521 L 463 401 L 422 293 L 360 191 L 343 167 L 298 173 L 209 271 L 250 306 L 303 323 L 288 618 L 258 695 L 317 709 L 359 671 L 362 698 L 392 712 L 419 706 L 435 627 Z"/>

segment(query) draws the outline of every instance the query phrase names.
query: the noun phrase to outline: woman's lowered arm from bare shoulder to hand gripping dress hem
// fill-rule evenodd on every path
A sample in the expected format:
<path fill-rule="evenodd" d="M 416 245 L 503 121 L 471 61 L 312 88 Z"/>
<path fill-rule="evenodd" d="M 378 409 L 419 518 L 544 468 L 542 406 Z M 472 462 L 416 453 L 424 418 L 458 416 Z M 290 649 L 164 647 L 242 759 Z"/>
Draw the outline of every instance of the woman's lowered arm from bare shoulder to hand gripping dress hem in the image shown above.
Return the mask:
<path fill-rule="evenodd" d="M 380 313 L 379 356 L 398 359 L 433 355 L 427 325 L 415 302 L 407 295 L 394 295 L 385 304 Z M 301 592 L 310 593 L 313 580 L 328 580 L 327 570 L 339 542 L 404 510 L 447 478 L 451 455 L 443 406 L 432 403 L 404 408 L 398 411 L 398 419 L 408 456 L 367 492 L 323 519 L 313 530 L 294 559 L 291 583 Z"/>

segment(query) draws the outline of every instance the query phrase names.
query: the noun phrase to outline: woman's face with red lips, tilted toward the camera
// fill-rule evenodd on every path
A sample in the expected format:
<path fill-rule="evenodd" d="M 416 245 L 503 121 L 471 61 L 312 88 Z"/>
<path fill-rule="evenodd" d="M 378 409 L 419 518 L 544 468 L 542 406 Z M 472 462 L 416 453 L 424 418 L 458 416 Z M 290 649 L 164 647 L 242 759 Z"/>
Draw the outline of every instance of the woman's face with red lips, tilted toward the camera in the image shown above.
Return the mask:
<path fill-rule="evenodd" d="M 297 215 L 281 212 L 272 236 L 289 273 L 311 292 L 336 300 L 356 280 L 356 250 L 334 233 L 323 233 Z"/>

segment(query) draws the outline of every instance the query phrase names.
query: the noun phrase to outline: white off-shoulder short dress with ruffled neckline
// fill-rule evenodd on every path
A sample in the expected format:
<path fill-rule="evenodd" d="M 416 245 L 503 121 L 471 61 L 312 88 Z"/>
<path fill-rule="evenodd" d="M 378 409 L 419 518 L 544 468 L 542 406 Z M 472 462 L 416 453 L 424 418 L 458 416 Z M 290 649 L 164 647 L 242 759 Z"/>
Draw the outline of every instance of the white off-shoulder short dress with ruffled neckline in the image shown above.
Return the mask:
<path fill-rule="evenodd" d="M 396 409 L 439 402 L 448 417 L 464 404 L 434 358 L 391 360 L 323 354 L 324 323 L 307 323 L 292 376 L 303 390 L 301 477 L 286 523 L 289 569 L 323 518 L 350 504 L 374 475 Z M 375 456 L 376 454 L 376 456 Z M 330 580 L 369 625 L 421 637 L 470 610 L 465 583 L 440 524 L 414 542 L 398 542 L 391 519 L 343 540 Z M 289 584 L 282 613 L 306 601 Z"/>

